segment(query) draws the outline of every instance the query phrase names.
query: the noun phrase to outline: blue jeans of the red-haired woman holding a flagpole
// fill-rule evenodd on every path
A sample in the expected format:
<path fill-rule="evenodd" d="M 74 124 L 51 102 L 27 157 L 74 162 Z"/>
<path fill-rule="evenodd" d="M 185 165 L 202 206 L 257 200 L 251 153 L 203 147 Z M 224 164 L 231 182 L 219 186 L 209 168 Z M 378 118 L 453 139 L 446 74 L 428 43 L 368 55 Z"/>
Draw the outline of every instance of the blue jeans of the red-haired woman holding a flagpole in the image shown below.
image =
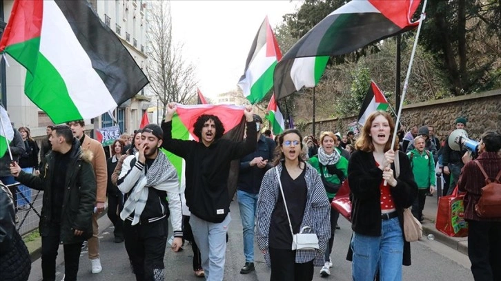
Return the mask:
<path fill-rule="evenodd" d="M 373 281 L 377 267 L 381 281 L 402 280 L 404 236 L 398 218 L 381 221 L 381 236 L 354 232 L 351 249 L 354 281 Z"/>

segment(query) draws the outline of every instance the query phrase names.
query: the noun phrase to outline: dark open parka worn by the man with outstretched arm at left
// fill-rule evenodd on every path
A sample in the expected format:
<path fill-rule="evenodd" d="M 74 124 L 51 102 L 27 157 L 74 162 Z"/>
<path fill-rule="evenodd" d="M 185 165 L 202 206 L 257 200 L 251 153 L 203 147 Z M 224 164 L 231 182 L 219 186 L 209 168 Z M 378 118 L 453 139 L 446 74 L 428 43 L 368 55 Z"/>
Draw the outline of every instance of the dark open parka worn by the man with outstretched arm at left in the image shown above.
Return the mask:
<path fill-rule="evenodd" d="M 46 165 L 41 168 L 40 175 L 35 176 L 23 171 L 17 181 L 32 189 L 43 190 L 43 205 L 39 223 L 41 236 L 48 235 L 48 225 L 52 220 L 51 189 L 52 173 L 55 166 L 55 153 L 46 157 Z M 92 154 L 83 152 L 80 142 L 74 138 L 70 153 L 70 163 L 66 171 L 66 182 L 61 211 L 61 243 L 72 244 L 83 242 L 92 236 L 92 212 L 96 202 L 96 177 L 90 164 Z M 55 174 L 57 176 L 57 174 Z M 74 229 L 83 231 L 83 235 L 75 236 Z"/>

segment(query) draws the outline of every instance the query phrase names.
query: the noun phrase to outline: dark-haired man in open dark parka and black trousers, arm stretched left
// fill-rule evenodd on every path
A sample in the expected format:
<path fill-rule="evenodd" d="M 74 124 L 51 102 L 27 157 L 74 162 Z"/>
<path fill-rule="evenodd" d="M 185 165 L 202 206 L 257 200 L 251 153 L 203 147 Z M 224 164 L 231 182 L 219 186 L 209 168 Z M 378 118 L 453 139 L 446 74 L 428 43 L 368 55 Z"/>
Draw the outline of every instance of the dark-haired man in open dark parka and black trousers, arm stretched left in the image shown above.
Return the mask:
<path fill-rule="evenodd" d="M 59 244 L 64 247 L 65 280 L 77 280 L 81 244 L 92 236 L 96 178 L 90 155 L 82 152 L 70 127 L 55 126 L 50 143 L 52 152 L 38 176 L 25 173 L 17 163 L 10 172 L 23 185 L 44 191 L 39 224 L 43 280 L 56 278 Z"/>

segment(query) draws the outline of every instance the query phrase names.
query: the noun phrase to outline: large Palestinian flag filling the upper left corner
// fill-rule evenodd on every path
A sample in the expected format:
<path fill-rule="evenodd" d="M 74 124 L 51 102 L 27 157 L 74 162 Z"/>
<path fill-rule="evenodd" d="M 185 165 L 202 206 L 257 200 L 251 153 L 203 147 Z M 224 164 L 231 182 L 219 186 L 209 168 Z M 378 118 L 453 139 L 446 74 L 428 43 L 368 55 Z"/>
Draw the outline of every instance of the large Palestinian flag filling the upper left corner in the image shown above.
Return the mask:
<path fill-rule="evenodd" d="M 94 118 L 148 79 L 86 0 L 16 0 L 0 52 L 26 67 L 24 92 L 55 124 Z"/>

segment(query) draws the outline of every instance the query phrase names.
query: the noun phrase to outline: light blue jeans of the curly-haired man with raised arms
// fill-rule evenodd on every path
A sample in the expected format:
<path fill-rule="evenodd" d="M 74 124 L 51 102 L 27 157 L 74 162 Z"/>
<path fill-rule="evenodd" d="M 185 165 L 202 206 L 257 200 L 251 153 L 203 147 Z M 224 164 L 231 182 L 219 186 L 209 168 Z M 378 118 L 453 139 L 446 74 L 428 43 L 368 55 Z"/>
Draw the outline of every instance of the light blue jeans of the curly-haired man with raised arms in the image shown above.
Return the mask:
<path fill-rule="evenodd" d="M 190 216 L 190 227 L 202 254 L 202 268 L 205 272 L 206 281 L 223 280 L 226 258 L 226 233 L 228 233 L 230 221 L 230 214 L 226 215 L 222 222 L 208 222 L 194 214 Z"/>

